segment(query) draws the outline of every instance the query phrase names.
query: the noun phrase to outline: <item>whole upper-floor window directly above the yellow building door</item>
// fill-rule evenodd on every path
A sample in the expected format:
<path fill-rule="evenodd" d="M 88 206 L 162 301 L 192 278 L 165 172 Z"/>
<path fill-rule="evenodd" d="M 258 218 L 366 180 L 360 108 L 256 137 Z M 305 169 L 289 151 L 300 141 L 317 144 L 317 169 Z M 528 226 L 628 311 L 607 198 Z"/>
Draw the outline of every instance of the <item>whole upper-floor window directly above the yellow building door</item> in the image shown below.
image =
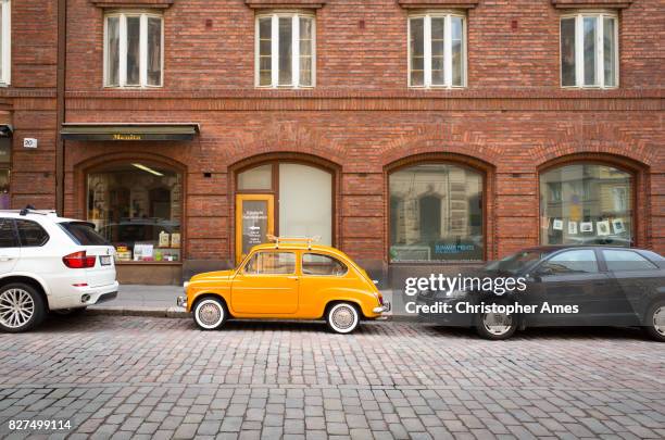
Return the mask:
<path fill-rule="evenodd" d="M 256 16 L 258 87 L 313 87 L 315 22 L 303 13 Z"/>

